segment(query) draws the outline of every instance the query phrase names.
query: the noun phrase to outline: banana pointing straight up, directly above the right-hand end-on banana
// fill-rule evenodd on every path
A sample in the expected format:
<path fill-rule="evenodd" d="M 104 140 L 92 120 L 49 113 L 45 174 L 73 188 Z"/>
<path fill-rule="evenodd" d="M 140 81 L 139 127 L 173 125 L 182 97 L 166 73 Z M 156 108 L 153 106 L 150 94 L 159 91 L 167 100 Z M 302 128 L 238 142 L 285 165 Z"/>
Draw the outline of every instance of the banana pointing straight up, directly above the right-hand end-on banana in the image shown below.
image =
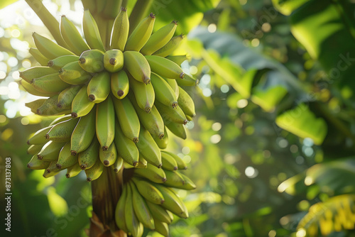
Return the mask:
<path fill-rule="evenodd" d="M 111 32 L 111 49 L 118 49 L 122 52 L 126 46 L 127 38 L 129 36 L 129 17 L 127 9 L 121 7 L 121 11 L 114 20 Z"/>

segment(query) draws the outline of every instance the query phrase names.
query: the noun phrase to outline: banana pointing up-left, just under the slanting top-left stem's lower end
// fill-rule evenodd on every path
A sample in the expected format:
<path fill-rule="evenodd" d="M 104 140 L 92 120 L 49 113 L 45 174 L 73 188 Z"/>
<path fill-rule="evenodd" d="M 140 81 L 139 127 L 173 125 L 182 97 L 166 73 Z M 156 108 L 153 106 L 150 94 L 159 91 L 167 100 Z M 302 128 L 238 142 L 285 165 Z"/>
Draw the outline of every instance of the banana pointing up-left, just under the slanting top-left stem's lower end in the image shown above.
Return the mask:
<path fill-rule="evenodd" d="M 33 33 L 32 37 L 33 41 L 35 42 L 35 46 L 38 48 L 40 53 L 50 60 L 53 60 L 55 57 L 60 57 L 62 55 L 74 55 L 74 53 L 72 53 L 70 50 L 57 45 L 52 40 L 45 38 L 38 33 Z"/>

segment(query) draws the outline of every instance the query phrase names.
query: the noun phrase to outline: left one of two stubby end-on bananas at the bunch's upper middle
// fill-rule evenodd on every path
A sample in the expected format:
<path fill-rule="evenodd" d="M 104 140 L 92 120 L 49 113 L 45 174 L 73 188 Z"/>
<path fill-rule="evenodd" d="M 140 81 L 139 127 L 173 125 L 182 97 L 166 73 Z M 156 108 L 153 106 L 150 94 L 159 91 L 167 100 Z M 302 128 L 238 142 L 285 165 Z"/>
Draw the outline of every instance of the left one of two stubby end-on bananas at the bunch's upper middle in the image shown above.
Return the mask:
<path fill-rule="evenodd" d="M 79 65 L 87 72 L 102 72 L 104 70 L 104 52 L 95 49 L 82 52 Z"/>

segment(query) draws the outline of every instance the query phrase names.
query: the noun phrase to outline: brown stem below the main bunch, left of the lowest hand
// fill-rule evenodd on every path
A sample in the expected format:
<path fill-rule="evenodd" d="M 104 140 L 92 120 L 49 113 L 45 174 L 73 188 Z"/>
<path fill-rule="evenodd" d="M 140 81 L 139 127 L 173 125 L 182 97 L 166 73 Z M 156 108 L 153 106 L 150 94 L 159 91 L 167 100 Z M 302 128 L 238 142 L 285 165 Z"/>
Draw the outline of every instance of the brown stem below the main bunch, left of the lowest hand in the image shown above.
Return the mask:
<path fill-rule="evenodd" d="M 119 231 L 116 226 L 114 216 L 116 204 L 123 187 L 123 169 L 118 174 L 111 167 L 105 167 L 99 179 L 92 181 L 92 209 L 94 214 L 104 227 L 109 227 L 109 231 L 116 236 L 126 237 L 124 231 Z M 90 228 L 90 236 L 95 229 Z"/>

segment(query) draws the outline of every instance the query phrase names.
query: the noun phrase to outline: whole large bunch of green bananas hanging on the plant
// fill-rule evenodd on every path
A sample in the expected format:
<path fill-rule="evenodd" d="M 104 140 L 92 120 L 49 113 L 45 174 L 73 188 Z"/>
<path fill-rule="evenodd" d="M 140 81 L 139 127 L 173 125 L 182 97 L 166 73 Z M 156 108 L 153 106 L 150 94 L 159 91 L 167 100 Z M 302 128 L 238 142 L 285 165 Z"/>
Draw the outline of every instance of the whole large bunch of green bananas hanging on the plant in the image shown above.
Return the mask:
<path fill-rule="evenodd" d="M 41 116 L 59 116 L 28 140 L 28 153 L 33 155 L 28 167 L 45 170 L 44 177 L 67 170 L 69 178 L 84 170 L 87 181 L 99 178 L 107 167 L 115 172 L 133 170 L 124 193 L 127 200 L 134 197 L 139 202 L 125 205 L 124 210 L 119 208 L 123 201 L 117 206 L 119 215 L 126 216 L 133 213 L 134 205 L 141 205 L 134 206 L 138 219 L 127 219 L 125 224 L 121 218 L 117 221 L 133 236 L 141 236 L 142 224 L 166 235 L 171 214 L 165 209 L 187 217 L 182 201 L 168 187 L 195 188 L 176 171 L 185 169 L 182 160 L 162 149 L 168 144 L 167 129 L 186 138 L 184 125 L 195 116 L 195 105 L 182 87 L 195 86 L 197 80 L 179 66 L 186 55 L 169 56 L 184 38 L 174 36 L 177 22 L 152 33 L 154 21 L 151 13 L 129 34 L 127 11 L 121 8 L 105 48 L 89 10 L 82 21 L 84 38 L 62 16 L 60 33 L 67 48 L 33 33 L 36 48 L 30 53 L 42 66 L 20 72 L 21 84 L 29 93 L 48 97 L 26 106 Z M 142 183 L 153 187 L 158 196 L 149 194 L 150 189 L 142 191 Z M 161 197 L 161 203 L 150 203 L 152 195 Z M 170 203 L 178 205 L 180 212 Z M 146 208 L 149 214 L 148 207 L 169 219 L 153 215 L 148 224 L 148 219 L 141 219 L 143 209 L 138 211 Z"/>

